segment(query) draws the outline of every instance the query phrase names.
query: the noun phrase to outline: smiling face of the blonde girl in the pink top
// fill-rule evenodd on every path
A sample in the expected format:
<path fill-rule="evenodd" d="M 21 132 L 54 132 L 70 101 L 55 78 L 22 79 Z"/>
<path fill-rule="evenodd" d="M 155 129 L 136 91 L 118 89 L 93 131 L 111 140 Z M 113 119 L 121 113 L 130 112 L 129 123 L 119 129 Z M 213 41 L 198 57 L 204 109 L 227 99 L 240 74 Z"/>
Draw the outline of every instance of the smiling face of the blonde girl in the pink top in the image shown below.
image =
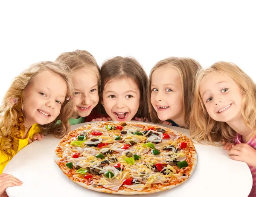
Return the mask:
<path fill-rule="evenodd" d="M 199 92 L 215 121 L 232 122 L 241 116 L 242 94 L 233 79 L 214 71 L 204 76 Z"/>

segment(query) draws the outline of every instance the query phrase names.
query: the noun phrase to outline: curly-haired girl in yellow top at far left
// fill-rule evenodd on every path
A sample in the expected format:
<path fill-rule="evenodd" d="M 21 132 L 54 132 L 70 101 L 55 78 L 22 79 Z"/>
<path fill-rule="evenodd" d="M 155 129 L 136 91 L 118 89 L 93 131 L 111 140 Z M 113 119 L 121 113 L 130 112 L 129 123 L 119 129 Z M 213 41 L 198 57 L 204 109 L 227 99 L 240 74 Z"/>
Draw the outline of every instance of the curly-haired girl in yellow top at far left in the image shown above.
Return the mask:
<path fill-rule="evenodd" d="M 15 77 L 7 90 L 0 107 L 0 196 L 7 187 L 21 184 L 2 172 L 29 138 L 38 132 L 64 137 L 70 131 L 73 86 L 68 71 L 55 62 L 39 62 Z"/>

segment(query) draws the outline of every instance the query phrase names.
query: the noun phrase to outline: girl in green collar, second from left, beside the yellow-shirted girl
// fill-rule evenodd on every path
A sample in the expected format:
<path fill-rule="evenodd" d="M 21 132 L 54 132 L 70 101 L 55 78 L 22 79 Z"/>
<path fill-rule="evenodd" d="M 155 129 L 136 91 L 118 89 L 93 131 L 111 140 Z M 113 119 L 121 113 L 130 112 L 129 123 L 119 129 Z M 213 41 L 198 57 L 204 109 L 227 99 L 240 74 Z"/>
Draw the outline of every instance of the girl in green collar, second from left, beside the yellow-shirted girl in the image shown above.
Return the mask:
<path fill-rule="evenodd" d="M 92 110 L 99 103 L 100 76 L 99 65 L 91 53 L 85 50 L 61 53 L 56 62 L 61 62 L 71 69 L 71 79 L 74 86 L 73 114 L 71 125 L 91 121 Z M 97 108 L 93 110 L 97 113 Z M 90 116 L 89 116 L 90 115 Z M 91 117 L 90 120 L 86 120 Z"/>

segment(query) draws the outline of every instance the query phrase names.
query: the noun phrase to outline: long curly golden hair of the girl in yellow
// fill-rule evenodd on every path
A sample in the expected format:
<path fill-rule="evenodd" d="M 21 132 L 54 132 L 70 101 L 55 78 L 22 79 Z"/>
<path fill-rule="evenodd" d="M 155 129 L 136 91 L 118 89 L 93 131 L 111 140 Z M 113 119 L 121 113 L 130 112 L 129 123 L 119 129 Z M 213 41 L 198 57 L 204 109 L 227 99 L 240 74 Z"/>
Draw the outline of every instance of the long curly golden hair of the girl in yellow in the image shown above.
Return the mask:
<path fill-rule="evenodd" d="M 0 121 L 0 139 L 2 139 L 3 144 L 0 146 L 0 151 L 9 158 L 13 157 L 13 151 L 18 151 L 19 140 L 23 139 L 20 131 L 25 131 L 24 121 L 26 117 L 22 107 L 24 90 L 36 80 L 39 73 L 46 70 L 58 74 L 65 80 L 67 84 L 67 95 L 73 93 L 73 86 L 67 73 L 69 68 L 55 62 L 39 62 L 30 66 L 19 76 L 15 77 L 3 98 L 3 104 L 0 107 L 0 113 L 3 113 L 3 118 Z M 17 99 L 17 103 L 10 103 L 13 99 Z M 38 125 L 41 132 L 53 133 L 56 137 L 63 137 L 66 135 L 70 131 L 68 119 L 71 116 L 72 111 L 73 102 L 65 100 L 61 106 L 60 114 L 53 122 Z M 56 124 L 57 120 L 61 120 L 62 124 Z"/>

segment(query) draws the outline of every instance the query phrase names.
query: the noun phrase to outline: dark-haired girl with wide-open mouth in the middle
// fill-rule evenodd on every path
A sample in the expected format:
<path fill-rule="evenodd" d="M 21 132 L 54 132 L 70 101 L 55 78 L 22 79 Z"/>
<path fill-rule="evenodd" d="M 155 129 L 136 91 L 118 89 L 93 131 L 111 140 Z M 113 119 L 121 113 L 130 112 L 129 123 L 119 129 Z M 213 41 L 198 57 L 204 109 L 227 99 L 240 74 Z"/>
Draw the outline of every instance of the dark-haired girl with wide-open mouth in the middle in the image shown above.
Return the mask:
<path fill-rule="evenodd" d="M 103 114 L 113 121 L 131 121 L 135 116 L 148 118 L 148 76 L 136 59 L 121 56 L 108 59 L 100 74 Z"/>

